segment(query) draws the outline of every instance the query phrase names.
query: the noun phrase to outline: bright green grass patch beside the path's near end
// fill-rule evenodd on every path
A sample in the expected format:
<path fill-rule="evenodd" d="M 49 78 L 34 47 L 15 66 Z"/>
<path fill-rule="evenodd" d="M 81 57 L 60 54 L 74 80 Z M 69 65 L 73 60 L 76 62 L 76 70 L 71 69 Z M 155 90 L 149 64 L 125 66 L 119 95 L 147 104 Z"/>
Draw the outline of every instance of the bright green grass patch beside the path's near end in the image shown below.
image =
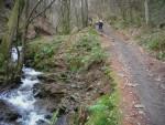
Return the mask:
<path fill-rule="evenodd" d="M 89 106 L 90 115 L 86 125 L 119 125 L 117 98 L 117 93 L 105 95 L 96 104 Z"/>

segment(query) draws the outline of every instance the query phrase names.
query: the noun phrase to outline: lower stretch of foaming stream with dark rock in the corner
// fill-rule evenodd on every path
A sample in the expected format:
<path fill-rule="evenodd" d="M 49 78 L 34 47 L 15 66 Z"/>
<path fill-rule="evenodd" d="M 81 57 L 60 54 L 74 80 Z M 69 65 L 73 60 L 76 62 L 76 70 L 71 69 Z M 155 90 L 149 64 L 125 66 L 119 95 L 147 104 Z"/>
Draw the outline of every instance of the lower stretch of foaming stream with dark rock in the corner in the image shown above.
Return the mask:
<path fill-rule="evenodd" d="M 40 84 L 38 75 L 40 72 L 23 67 L 22 84 L 0 94 L 1 125 L 38 125 L 40 122 L 48 122 L 45 118 L 47 112 L 35 105 L 33 86 Z"/>

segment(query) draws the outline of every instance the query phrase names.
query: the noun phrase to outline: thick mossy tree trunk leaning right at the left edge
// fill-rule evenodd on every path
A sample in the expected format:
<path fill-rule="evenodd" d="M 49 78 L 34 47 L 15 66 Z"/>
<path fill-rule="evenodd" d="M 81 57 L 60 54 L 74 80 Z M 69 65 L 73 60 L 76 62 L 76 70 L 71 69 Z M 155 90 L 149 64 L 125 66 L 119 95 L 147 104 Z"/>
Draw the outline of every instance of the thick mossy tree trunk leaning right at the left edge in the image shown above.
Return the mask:
<path fill-rule="evenodd" d="M 23 6 L 23 0 L 15 1 L 14 8 L 9 19 L 8 31 L 3 37 L 2 44 L 0 48 L 2 54 L 1 60 L 3 60 L 2 66 L 6 69 L 6 77 L 7 77 L 6 82 L 10 81 L 11 76 L 13 76 L 12 73 L 14 73 L 12 69 L 13 64 L 11 64 L 11 50 L 13 45 L 13 39 L 16 34 L 20 10 L 23 9 L 22 6 Z"/>

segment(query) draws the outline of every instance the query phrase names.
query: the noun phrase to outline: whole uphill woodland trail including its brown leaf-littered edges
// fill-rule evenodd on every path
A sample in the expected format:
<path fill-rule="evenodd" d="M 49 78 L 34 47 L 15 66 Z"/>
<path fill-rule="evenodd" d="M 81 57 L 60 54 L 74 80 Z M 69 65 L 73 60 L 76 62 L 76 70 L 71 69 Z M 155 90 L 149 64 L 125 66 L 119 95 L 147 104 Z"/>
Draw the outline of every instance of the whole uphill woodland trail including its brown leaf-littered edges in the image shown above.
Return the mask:
<path fill-rule="evenodd" d="M 127 94 L 123 95 L 128 100 L 125 104 L 134 112 L 131 113 L 132 122 L 128 119 L 125 125 L 165 125 L 165 63 L 150 58 L 109 25 L 105 27 L 105 35 L 111 45 L 113 69 L 124 79 L 122 94 Z M 147 122 L 143 121 L 144 114 Z"/>

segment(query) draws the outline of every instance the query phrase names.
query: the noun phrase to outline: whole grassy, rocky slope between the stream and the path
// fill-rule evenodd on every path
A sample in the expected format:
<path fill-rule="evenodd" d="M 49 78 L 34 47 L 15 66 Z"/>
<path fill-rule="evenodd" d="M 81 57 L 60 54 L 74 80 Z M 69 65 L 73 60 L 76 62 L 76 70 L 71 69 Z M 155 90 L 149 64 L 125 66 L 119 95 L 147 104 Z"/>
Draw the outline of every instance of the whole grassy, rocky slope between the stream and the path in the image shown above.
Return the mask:
<path fill-rule="evenodd" d="M 117 90 L 94 29 L 36 39 L 28 46 L 26 65 L 45 73 L 36 97 L 47 111 L 58 111 L 69 125 L 119 124 Z"/>

